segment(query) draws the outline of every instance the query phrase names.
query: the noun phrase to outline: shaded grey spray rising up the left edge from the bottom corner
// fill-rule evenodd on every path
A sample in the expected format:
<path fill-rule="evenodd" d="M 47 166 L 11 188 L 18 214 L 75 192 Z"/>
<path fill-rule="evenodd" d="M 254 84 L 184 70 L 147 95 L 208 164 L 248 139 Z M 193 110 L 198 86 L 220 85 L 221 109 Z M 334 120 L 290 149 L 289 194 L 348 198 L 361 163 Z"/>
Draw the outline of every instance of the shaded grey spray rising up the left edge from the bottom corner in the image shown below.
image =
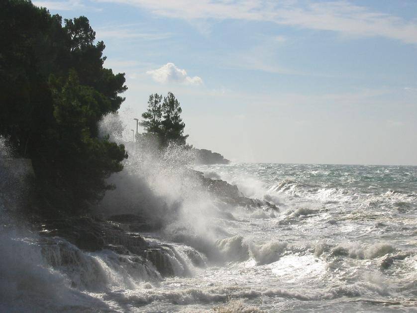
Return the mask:
<path fill-rule="evenodd" d="M 9 154 L 3 151 L 3 156 Z M 7 166 L 0 166 L 0 311 L 106 309 L 101 301 L 72 289 L 70 279 L 46 262 L 42 238 L 23 218 L 30 167 L 21 166 L 27 162 L 20 159 L 6 162 Z"/>

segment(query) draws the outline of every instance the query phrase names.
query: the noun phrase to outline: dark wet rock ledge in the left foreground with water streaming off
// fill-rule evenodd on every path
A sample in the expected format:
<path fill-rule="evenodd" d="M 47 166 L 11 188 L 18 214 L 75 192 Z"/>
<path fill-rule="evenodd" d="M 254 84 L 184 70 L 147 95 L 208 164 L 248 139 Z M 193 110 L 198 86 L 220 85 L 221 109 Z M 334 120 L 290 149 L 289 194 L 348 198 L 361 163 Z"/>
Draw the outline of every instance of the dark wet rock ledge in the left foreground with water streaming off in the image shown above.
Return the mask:
<path fill-rule="evenodd" d="M 63 238 L 83 251 L 107 249 L 137 262 L 149 261 L 163 277 L 189 275 L 186 262 L 173 247 L 147 242 L 140 234 L 129 231 L 142 221 L 143 217 L 134 214 L 114 215 L 107 220 L 88 216 L 45 220 L 39 233 L 46 239 Z"/>

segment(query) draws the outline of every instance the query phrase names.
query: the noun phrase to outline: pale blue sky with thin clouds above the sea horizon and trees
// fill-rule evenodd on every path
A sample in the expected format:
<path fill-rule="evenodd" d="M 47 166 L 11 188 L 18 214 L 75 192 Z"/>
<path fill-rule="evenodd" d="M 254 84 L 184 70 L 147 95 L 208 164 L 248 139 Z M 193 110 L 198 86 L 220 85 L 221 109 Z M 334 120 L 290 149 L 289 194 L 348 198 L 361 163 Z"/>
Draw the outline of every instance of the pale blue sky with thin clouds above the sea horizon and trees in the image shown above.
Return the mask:
<path fill-rule="evenodd" d="M 174 93 L 188 143 L 236 162 L 417 165 L 416 0 L 34 0 L 85 15 L 120 108 Z"/>

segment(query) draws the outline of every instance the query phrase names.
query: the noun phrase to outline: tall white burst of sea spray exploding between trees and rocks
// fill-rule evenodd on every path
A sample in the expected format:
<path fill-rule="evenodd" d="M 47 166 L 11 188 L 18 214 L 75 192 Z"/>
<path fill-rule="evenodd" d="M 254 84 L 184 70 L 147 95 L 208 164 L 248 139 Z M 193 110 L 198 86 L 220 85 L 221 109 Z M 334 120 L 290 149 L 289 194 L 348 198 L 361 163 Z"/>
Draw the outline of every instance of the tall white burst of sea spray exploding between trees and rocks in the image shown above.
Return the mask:
<path fill-rule="evenodd" d="M 114 115 L 104 117 L 101 133 L 119 130 L 117 120 Z M 122 140 L 120 136 L 112 136 Z M 175 144 L 159 150 L 156 145 L 149 137 L 126 143 L 129 158 L 124 162 L 124 169 L 108 180 L 116 189 L 106 193 L 97 212 L 137 214 L 161 229 L 167 239 L 178 240 L 179 233 L 182 237 L 196 235 L 213 246 L 218 236 L 209 220 L 220 212 L 223 214 L 223 210 L 216 207 L 198 176 L 190 170 L 195 152 Z M 202 248 L 208 257 L 213 255 L 204 244 L 194 247 Z"/>

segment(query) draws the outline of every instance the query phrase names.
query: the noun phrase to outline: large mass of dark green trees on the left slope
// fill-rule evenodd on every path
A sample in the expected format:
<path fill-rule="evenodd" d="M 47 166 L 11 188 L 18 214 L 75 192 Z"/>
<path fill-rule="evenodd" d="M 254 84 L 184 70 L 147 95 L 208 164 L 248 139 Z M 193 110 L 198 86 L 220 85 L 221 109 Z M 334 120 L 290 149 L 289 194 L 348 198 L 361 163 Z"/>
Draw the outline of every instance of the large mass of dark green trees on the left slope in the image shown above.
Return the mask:
<path fill-rule="evenodd" d="M 124 101 L 124 74 L 103 67 L 104 43 L 94 43 L 84 16 L 62 23 L 30 1 L 1 1 L 0 38 L 0 135 L 16 157 L 32 159 L 43 204 L 87 208 L 127 158 L 97 128 Z M 169 112 L 174 121 L 178 109 Z"/>

